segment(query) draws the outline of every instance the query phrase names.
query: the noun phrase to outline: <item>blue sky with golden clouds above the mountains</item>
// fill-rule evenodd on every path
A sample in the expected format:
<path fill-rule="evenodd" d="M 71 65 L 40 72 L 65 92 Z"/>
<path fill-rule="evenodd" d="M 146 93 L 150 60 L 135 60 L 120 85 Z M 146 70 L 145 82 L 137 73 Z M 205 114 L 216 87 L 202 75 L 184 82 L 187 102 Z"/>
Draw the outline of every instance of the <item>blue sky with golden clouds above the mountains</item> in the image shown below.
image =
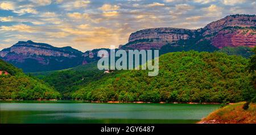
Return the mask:
<path fill-rule="evenodd" d="M 255 0 L 0 0 L 0 50 L 27 40 L 82 52 L 118 48 L 140 29 L 197 29 L 255 13 Z"/>

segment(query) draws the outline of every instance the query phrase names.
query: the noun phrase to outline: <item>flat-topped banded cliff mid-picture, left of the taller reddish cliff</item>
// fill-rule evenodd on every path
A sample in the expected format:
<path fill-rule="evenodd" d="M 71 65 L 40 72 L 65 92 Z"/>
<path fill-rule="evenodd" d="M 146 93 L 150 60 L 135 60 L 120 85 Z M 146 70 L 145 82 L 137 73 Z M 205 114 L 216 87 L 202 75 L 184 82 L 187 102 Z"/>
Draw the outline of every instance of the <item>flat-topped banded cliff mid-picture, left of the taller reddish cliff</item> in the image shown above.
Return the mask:
<path fill-rule="evenodd" d="M 121 49 L 160 49 L 167 43 L 195 37 L 195 31 L 182 28 L 150 28 L 131 33 L 129 43 Z"/>

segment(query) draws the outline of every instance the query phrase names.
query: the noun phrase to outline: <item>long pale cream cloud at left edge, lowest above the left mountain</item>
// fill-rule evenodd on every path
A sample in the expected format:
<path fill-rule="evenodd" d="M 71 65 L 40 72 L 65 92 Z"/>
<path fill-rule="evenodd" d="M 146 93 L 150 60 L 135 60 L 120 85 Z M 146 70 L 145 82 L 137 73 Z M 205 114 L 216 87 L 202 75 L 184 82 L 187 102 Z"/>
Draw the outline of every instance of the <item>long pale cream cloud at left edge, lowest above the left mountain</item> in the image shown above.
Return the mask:
<path fill-rule="evenodd" d="M 1 26 L 0 27 L 1 31 L 19 31 L 19 32 L 36 32 L 38 29 L 31 27 L 31 26 L 27 26 L 26 24 L 17 24 L 14 26 Z"/>

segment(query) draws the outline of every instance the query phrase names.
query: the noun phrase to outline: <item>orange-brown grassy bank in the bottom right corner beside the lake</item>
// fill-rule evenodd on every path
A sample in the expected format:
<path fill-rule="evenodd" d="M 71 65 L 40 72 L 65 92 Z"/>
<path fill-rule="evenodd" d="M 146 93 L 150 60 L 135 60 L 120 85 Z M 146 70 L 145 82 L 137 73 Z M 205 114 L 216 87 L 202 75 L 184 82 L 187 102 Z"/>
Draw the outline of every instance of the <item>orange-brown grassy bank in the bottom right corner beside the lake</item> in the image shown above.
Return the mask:
<path fill-rule="evenodd" d="M 243 109 L 245 102 L 228 105 L 210 113 L 201 120 L 201 124 L 255 124 L 256 104 L 251 103 L 248 109 Z"/>

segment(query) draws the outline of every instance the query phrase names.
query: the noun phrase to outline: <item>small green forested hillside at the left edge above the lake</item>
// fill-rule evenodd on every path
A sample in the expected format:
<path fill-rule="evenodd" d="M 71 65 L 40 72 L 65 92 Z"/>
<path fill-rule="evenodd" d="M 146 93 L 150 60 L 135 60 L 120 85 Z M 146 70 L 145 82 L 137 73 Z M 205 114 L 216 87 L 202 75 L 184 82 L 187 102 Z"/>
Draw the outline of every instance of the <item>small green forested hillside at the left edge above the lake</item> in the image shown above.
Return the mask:
<path fill-rule="evenodd" d="M 0 99 L 43 100 L 59 99 L 60 93 L 39 79 L 25 75 L 22 70 L 0 60 Z"/>

